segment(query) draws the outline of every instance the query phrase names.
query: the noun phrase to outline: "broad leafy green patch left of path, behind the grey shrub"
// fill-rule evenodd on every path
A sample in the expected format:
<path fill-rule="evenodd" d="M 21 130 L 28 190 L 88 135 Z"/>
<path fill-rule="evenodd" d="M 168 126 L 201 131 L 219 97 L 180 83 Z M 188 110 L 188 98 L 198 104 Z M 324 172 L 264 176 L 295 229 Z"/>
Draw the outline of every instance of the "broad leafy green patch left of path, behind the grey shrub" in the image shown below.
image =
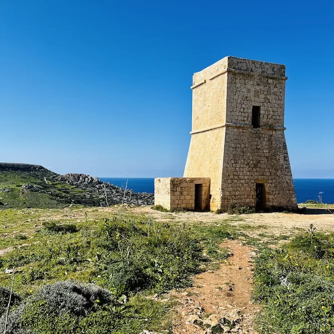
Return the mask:
<path fill-rule="evenodd" d="M 116 216 L 76 226 L 50 221 L 24 242 L 0 258 L 2 269 L 20 267 L 15 287 L 24 294 L 59 279 L 92 282 L 121 295 L 163 292 L 188 285 L 202 253 L 184 227 Z"/>

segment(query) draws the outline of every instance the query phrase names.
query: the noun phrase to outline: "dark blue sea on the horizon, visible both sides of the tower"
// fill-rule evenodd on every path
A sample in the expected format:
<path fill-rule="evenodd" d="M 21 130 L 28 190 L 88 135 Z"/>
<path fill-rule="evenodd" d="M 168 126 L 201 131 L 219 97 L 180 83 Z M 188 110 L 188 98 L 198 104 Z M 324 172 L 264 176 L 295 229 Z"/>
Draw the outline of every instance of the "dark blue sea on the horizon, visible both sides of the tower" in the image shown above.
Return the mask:
<path fill-rule="evenodd" d="M 103 182 L 110 182 L 119 187 L 125 188 L 126 178 L 100 177 Z M 323 203 L 334 203 L 334 179 L 293 179 L 298 203 L 304 203 L 308 199 L 319 200 Z M 128 189 L 135 192 L 154 193 L 154 178 L 129 178 Z"/>

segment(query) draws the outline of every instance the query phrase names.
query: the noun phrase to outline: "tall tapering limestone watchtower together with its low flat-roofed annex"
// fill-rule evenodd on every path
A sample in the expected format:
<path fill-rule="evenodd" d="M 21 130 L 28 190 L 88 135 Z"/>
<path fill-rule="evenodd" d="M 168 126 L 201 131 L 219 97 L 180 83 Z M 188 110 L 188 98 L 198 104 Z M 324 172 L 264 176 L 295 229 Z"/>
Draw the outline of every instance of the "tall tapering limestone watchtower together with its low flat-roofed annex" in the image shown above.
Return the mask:
<path fill-rule="evenodd" d="M 225 57 L 194 73 L 183 178 L 156 178 L 167 209 L 295 209 L 284 136 L 285 66 Z"/>

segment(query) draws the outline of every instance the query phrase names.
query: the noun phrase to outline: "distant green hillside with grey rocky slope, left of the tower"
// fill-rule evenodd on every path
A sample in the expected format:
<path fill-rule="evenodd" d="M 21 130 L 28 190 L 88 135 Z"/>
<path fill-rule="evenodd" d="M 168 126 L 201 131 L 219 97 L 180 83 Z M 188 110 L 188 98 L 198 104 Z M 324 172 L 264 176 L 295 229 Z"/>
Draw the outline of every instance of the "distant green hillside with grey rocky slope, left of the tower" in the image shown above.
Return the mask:
<path fill-rule="evenodd" d="M 153 194 L 125 191 L 85 174 L 59 175 L 38 165 L 0 163 L 0 208 L 151 205 L 153 201 Z"/>

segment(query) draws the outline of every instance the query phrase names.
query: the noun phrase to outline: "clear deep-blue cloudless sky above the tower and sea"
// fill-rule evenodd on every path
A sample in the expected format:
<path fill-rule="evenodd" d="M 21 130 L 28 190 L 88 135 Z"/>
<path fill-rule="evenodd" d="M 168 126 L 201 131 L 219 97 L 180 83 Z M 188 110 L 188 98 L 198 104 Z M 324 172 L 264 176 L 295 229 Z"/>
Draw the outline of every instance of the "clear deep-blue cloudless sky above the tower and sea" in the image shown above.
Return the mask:
<path fill-rule="evenodd" d="M 295 178 L 334 178 L 334 5 L 0 0 L 0 162 L 182 176 L 193 72 L 228 56 L 286 65 Z"/>

